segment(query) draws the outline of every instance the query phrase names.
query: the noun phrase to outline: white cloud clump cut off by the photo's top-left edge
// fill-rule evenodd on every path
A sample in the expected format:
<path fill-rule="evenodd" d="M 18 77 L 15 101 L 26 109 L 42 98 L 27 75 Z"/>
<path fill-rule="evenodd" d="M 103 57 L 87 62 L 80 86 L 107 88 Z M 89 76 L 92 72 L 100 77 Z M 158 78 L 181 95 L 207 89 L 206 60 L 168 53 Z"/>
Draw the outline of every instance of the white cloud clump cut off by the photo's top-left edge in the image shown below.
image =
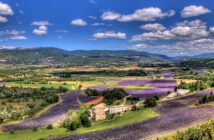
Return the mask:
<path fill-rule="evenodd" d="M 6 16 L 13 14 L 13 10 L 8 4 L 0 2 L 0 23 L 6 23 L 8 21 Z"/>

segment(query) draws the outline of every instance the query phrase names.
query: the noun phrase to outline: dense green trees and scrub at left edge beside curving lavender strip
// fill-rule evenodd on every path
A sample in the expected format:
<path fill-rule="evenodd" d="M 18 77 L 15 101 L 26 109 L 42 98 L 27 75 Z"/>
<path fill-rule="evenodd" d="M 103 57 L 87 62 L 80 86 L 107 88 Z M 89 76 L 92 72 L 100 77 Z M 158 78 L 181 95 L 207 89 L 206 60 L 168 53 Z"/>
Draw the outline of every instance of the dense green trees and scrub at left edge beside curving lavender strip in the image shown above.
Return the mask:
<path fill-rule="evenodd" d="M 37 111 L 59 100 L 54 88 L 6 88 L 0 87 L 1 122 L 32 117 Z"/>

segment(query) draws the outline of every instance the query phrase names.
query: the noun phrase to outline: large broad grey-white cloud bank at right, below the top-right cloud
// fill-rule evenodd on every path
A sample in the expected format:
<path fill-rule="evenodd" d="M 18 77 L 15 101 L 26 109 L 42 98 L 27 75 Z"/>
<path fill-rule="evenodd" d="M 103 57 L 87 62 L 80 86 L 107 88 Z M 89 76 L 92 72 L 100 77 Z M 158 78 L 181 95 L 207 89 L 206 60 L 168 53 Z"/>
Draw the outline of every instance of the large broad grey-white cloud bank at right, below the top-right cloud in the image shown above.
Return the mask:
<path fill-rule="evenodd" d="M 146 32 L 140 35 L 134 35 L 131 41 L 143 41 L 143 40 L 170 40 L 170 39 L 197 39 L 201 37 L 207 37 L 209 32 L 205 22 L 201 20 L 184 21 L 176 24 L 175 27 L 164 31 Z"/>

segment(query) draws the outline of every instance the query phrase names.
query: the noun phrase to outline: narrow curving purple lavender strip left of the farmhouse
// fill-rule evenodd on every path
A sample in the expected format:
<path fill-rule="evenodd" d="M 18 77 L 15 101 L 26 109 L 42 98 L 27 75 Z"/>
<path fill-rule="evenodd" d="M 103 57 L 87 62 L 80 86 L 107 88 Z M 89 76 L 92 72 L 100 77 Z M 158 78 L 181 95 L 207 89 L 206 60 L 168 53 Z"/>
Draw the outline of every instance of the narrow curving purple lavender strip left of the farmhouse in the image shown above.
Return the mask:
<path fill-rule="evenodd" d="M 3 127 L 3 130 L 26 130 L 34 127 L 47 126 L 48 124 L 56 124 L 65 118 L 68 110 L 79 108 L 79 104 L 77 102 L 77 98 L 79 96 L 80 94 L 78 92 L 62 94 L 60 95 L 62 102 L 59 105 L 52 107 L 47 113 L 38 118 L 25 120 L 18 124 L 6 125 Z"/>

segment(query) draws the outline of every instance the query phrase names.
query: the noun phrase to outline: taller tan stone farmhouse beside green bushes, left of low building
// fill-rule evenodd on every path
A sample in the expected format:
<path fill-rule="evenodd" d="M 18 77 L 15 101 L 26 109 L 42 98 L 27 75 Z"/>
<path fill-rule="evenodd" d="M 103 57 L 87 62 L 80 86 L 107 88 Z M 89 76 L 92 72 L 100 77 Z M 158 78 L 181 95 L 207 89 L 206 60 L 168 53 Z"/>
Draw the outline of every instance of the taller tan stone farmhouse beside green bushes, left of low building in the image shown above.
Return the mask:
<path fill-rule="evenodd" d="M 106 118 L 106 111 L 107 107 L 106 104 L 104 103 L 100 103 L 96 106 L 94 106 L 91 110 L 91 117 L 95 120 L 95 121 L 101 121 L 101 120 L 105 120 Z"/>

